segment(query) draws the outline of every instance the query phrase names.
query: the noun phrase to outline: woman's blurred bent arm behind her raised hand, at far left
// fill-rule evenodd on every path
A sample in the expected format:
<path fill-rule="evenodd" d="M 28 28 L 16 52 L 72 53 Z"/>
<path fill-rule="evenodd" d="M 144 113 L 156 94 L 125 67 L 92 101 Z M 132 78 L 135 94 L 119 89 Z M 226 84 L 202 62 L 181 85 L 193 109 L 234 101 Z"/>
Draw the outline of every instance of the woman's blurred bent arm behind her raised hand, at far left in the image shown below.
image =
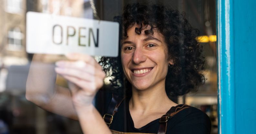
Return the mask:
<path fill-rule="evenodd" d="M 47 56 L 50 55 L 33 56 L 27 78 L 26 98 L 45 110 L 78 120 L 70 91 L 55 84 L 55 64 L 42 62 Z"/>

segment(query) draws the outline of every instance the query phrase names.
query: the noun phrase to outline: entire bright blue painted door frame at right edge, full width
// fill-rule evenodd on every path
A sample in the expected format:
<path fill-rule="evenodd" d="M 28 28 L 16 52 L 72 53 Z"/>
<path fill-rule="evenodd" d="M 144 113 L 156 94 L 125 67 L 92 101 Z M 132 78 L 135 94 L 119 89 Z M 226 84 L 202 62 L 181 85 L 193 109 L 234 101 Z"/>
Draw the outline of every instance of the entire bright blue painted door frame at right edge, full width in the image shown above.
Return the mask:
<path fill-rule="evenodd" d="M 219 133 L 256 133 L 256 1 L 217 0 Z"/>

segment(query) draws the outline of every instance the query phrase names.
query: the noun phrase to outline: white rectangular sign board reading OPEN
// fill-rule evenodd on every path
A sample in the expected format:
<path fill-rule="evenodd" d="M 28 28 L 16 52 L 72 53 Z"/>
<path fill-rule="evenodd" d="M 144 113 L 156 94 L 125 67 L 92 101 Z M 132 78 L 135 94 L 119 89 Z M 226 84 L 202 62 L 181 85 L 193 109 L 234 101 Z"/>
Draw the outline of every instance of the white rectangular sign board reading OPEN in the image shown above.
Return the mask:
<path fill-rule="evenodd" d="M 119 24 L 27 12 L 27 53 L 118 56 Z"/>

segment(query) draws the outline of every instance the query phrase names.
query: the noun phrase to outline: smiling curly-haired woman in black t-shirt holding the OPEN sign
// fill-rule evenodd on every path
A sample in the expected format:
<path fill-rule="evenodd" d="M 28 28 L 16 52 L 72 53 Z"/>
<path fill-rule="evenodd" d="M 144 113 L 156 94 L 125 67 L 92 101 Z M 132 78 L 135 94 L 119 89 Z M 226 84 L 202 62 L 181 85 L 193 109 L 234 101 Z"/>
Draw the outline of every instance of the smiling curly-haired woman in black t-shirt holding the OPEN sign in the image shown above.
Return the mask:
<path fill-rule="evenodd" d="M 70 53 L 69 61 L 56 62 L 55 71 L 69 81 L 71 93 L 55 87 L 48 93 L 48 101 L 38 101 L 31 97 L 33 88 L 28 82 L 27 99 L 46 110 L 79 119 L 84 133 L 111 133 L 110 129 L 113 133 L 210 133 L 205 113 L 169 99 L 204 82 L 198 30 L 178 11 L 161 5 L 127 5 L 122 17 L 116 19 L 123 26 L 119 57 L 103 57 L 97 63 L 88 55 Z M 112 70 L 112 87 L 121 86 L 121 93 L 105 101 L 109 106 L 104 120 L 109 126 L 92 105 L 105 78 L 101 65 L 105 72 Z M 33 72 L 36 70 L 31 68 L 29 78 Z M 53 85 L 49 83 L 45 84 Z"/>

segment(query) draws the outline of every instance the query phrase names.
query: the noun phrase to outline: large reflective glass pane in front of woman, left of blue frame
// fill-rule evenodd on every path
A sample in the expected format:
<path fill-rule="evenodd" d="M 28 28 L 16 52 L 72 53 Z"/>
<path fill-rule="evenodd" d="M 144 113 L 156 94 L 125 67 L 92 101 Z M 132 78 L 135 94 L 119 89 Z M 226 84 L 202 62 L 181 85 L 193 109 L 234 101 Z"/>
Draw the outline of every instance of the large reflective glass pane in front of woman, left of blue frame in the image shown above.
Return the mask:
<path fill-rule="evenodd" d="M 218 133 L 215 0 L 22 2 L 0 11 L 0 133 Z"/>

